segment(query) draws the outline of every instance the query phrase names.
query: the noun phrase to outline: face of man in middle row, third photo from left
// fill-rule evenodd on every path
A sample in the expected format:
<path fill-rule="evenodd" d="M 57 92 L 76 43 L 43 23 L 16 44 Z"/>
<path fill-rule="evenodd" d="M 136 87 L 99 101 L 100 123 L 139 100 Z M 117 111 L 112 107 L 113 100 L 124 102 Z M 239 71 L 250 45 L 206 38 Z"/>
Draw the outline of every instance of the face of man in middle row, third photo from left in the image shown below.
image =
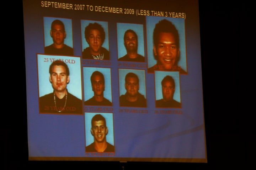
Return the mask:
<path fill-rule="evenodd" d="M 125 89 L 127 91 L 127 95 L 137 96 L 139 92 L 138 80 L 134 77 L 128 77 L 127 82 L 125 83 Z"/>

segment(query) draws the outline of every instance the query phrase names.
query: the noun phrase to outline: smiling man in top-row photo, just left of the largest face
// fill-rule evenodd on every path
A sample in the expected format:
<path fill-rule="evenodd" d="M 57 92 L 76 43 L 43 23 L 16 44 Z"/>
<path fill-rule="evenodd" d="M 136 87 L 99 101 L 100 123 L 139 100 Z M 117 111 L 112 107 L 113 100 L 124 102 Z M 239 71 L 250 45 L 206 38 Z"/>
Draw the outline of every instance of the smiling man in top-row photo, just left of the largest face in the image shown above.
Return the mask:
<path fill-rule="evenodd" d="M 124 33 L 124 46 L 127 54 L 118 59 L 118 61 L 134 61 L 145 62 L 145 57 L 138 54 L 138 36 L 132 29 L 126 30 Z"/>

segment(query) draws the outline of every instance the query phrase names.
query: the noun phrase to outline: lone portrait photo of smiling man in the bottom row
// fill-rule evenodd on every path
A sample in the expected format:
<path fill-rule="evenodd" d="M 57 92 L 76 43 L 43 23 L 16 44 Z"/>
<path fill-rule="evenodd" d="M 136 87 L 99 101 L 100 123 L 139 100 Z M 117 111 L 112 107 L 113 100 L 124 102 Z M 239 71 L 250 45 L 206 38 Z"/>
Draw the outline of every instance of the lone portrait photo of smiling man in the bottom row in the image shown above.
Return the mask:
<path fill-rule="evenodd" d="M 115 152 L 113 113 L 85 112 L 85 152 Z"/>

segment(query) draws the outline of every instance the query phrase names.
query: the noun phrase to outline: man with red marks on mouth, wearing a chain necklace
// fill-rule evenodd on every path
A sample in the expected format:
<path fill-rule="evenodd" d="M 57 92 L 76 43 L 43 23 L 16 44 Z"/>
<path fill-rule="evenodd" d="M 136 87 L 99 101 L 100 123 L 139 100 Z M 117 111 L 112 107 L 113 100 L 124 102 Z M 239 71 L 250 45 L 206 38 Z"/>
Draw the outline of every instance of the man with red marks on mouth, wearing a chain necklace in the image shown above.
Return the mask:
<path fill-rule="evenodd" d="M 82 100 L 67 89 L 70 81 L 67 64 L 56 60 L 50 65 L 49 73 L 53 92 L 39 97 L 40 113 L 82 114 Z"/>

